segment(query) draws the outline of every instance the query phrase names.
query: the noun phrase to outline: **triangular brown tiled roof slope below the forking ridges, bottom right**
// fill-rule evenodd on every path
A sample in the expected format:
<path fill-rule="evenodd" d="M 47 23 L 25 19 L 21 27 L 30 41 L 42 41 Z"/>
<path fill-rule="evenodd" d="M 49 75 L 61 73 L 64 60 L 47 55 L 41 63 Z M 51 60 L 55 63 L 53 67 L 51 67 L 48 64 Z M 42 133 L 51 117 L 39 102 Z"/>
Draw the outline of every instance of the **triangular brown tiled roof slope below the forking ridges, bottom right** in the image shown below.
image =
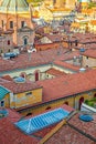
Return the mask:
<path fill-rule="evenodd" d="M 64 125 L 44 144 L 95 144 L 88 137 L 85 137 L 79 132 L 68 125 Z"/>

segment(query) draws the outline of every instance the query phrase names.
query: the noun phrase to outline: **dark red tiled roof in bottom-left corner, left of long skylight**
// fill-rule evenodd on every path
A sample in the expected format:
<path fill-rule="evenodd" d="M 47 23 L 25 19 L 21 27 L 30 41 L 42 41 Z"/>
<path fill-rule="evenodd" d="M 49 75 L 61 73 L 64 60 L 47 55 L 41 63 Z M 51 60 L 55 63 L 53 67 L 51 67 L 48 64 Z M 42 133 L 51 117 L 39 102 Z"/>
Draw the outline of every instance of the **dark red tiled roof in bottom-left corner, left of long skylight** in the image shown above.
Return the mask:
<path fill-rule="evenodd" d="M 28 136 L 14 125 L 21 115 L 13 110 L 7 110 L 8 116 L 0 119 L 0 144 L 38 144 L 38 140 Z"/>

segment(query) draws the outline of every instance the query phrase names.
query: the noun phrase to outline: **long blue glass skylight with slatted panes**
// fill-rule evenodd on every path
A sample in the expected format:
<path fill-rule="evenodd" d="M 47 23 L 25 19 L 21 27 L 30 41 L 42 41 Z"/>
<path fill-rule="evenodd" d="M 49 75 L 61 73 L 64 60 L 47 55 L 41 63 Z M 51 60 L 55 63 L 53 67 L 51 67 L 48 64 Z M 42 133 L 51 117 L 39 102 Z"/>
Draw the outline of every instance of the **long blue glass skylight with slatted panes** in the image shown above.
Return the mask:
<path fill-rule="evenodd" d="M 63 109 L 56 109 L 32 119 L 19 121 L 15 125 L 23 131 L 25 134 L 32 134 L 44 127 L 58 123 L 68 115 L 70 112 Z"/>

